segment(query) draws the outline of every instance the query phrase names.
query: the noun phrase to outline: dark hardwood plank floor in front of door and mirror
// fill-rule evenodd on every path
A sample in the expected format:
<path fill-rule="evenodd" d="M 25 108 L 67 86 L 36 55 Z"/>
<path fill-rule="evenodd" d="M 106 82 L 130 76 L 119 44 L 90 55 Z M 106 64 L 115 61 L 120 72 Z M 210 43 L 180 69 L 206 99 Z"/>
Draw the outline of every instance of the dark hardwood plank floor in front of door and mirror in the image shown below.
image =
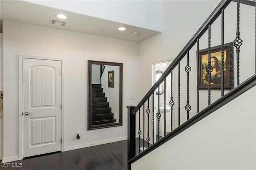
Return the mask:
<path fill-rule="evenodd" d="M 127 140 L 66 152 L 44 154 L 8 163 L 1 163 L 0 169 L 127 170 Z M 13 167 L 19 165 L 22 165 L 22 167 Z"/>

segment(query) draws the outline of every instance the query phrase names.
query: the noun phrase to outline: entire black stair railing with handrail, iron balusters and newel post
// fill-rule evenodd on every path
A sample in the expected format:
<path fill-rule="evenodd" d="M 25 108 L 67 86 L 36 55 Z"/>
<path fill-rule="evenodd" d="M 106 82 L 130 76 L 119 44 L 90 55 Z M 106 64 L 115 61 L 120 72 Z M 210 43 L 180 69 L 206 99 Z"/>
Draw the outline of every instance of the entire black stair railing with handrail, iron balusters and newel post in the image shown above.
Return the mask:
<path fill-rule="evenodd" d="M 236 8 L 236 18 L 237 18 L 237 22 L 236 22 L 236 39 L 234 40 L 234 42 L 232 43 L 234 45 L 234 47 L 236 47 L 236 59 L 237 59 L 237 85 L 236 87 L 232 90 L 230 90 L 228 93 L 226 93 L 224 95 L 224 55 L 223 55 L 223 47 L 224 47 L 224 9 L 229 5 L 230 2 L 237 2 L 237 8 Z M 242 4 L 246 4 L 246 5 L 250 5 L 250 6 L 256 6 L 255 2 L 254 4 L 252 4 L 251 2 L 248 2 L 248 0 L 243 0 L 241 1 Z M 210 102 L 210 91 L 211 91 L 211 87 L 210 87 L 210 78 L 211 76 L 208 76 L 208 80 L 209 80 L 209 85 L 208 85 L 208 106 L 205 107 L 203 110 L 199 111 L 199 68 L 200 68 L 200 61 L 199 61 L 199 39 L 205 34 L 205 32 L 208 30 L 208 67 L 206 67 L 206 71 L 208 71 L 208 74 L 210 75 L 212 70 L 211 68 L 211 60 L 210 60 L 210 56 L 211 56 L 211 31 L 210 31 L 210 27 L 211 25 L 216 21 L 216 19 L 221 15 L 221 48 L 222 48 L 222 80 L 221 80 L 221 92 L 222 95 L 221 97 L 216 100 L 215 102 L 211 103 Z M 197 123 L 198 121 L 200 121 L 201 119 L 203 119 L 204 117 L 210 115 L 211 113 L 213 113 L 214 111 L 216 111 L 218 108 L 222 107 L 223 105 L 225 105 L 226 103 L 232 101 L 234 98 L 238 97 L 239 95 L 241 95 L 242 93 L 244 93 L 245 91 L 249 90 L 250 88 L 256 86 L 256 74 L 252 75 L 252 77 L 248 78 L 246 81 L 242 82 L 241 84 L 239 83 L 239 53 L 240 53 L 240 45 L 242 45 L 243 40 L 240 39 L 240 31 L 239 31 L 239 17 L 240 17 L 240 0 L 222 0 L 218 6 L 214 9 L 214 11 L 212 12 L 212 14 L 206 19 L 206 21 L 204 22 L 204 24 L 202 24 L 202 26 L 198 29 L 198 31 L 196 32 L 196 34 L 194 34 L 194 36 L 190 39 L 190 41 L 185 45 L 185 47 L 180 51 L 180 53 L 178 54 L 178 56 L 174 59 L 174 61 L 172 61 L 172 63 L 169 65 L 169 67 L 166 69 L 166 71 L 164 71 L 164 73 L 162 74 L 162 76 L 160 77 L 160 79 L 158 79 L 158 81 L 156 81 L 156 83 L 150 88 L 150 90 L 148 91 L 148 93 L 144 96 L 144 98 L 140 101 L 140 103 L 135 107 L 135 106 L 129 106 L 128 108 L 128 148 L 130 148 L 130 150 L 128 150 L 128 169 L 131 169 L 131 164 L 133 162 L 135 162 L 136 160 L 142 158 L 144 155 L 148 154 L 149 152 L 151 152 L 152 150 L 154 150 L 155 148 L 158 148 L 159 146 L 161 146 L 162 144 L 164 144 L 165 142 L 167 142 L 168 140 L 170 140 L 171 138 L 173 138 L 174 136 L 180 134 L 180 132 L 186 130 L 188 127 L 194 125 L 195 123 Z M 255 32 L 256 33 L 256 32 Z M 256 40 L 256 39 L 255 39 Z M 191 70 L 191 67 L 189 65 L 189 53 L 190 53 L 190 49 L 192 49 L 192 47 L 194 47 L 194 45 L 197 44 L 197 48 L 196 48 L 196 69 L 197 69 L 197 111 L 196 111 L 196 115 L 194 115 L 193 117 L 189 118 L 189 111 L 191 106 L 189 105 L 189 71 Z M 185 121 L 184 123 L 182 123 L 182 125 L 180 125 L 180 61 L 185 57 L 185 55 L 187 55 L 187 65 L 185 67 L 185 71 L 187 72 L 187 105 L 185 106 L 185 110 L 187 111 L 187 121 Z M 176 67 L 178 66 L 178 127 L 176 127 L 174 130 L 172 130 L 172 110 L 173 110 L 173 106 L 174 106 L 174 101 L 172 100 L 172 73 L 173 70 L 176 69 Z M 207 69 L 208 68 L 208 69 Z M 171 97 L 170 97 L 170 106 L 171 106 L 171 132 L 169 134 L 166 135 L 166 96 L 165 96 L 165 92 L 164 92 L 164 137 L 162 139 L 159 138 L 160 136 L 160 98 L 159 98 L 159 94 L 158 94 L 158 111 L 156 111 L 156 117 L 157 117 L 157 121 L 158 121 L 158 140 L 154 143 L 154 127 L 156 126 L 154 124 L 154 109 L 156 109 L 156 107 L 154 107 L 154 93 L 156 91 L 157 88 L 159 88 L 160 84 L 163 83 L 163 81 L 166 81 L 167 76 L 169 76 L 171 74 Z M 230 75 L 230 77 L 232 77 L 232 75 Z M 164 86 L 165 89 L 165 86 Z M 229 89 L 228 89 L 229 90 Z M 158 89 L 158 93 L 159 93 L 159 89 Z M 151 140 L 149 136 L 149 114 L 150 109 L 149 109 L 149 100 L 150 97 L 152 96 L 152 146 L 149 146 L 149 141 Z M 145 108 L 144 105 L 146 104 L 146 102 L 148 102 L 148 109 L 147 109 L 147 113 L 148 113 L 148 136 L 145 140 L 144 138 L 144 125 L 145 125 L 145 121 L 144 121 L 144 115 L 145 115 Z M 140 112 L 141 112 L 141 108 L 143 107 L 143 138 L 140 136 L 142 134 L 142 131 L 140 130 Z M 136 113 L 138 114 L 139 117 L 139 130 L 138 130 L 138 135 L 136 136 Z M 162 131 L 161 131 L 162 132 Z M 162 135 L 161 135 L 162 136 Z M 139 139 L 139 144 L 137 146 L 136 144 L 136 140 L 137 137 Z M 143 140 L 144 142 L 148 142 L 148 148 L 146 148 L 146 150 L 144 150 L 144 142 L 143 142 L 143 151 L 140 152 L 140 140 Z M 137 149 L 139 149 L 139 154 L 136 154 Z M 130 159 L 130 160 L 129 160 Z"/>

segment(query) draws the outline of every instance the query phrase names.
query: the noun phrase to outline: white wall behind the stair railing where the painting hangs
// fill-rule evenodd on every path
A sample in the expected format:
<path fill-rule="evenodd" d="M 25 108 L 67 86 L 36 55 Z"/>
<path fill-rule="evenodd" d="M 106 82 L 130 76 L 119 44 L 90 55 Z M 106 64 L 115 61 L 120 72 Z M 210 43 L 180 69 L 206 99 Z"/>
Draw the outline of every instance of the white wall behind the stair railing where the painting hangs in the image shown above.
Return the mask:
<path fill-rule="evenodd" d="M 157 61 L 170 60 L 176 57 L 190 38 L 219 4 L 214 1 L 163 1 L 163 31 L 140 43 L 140 98 L 144 97 L 151 87 L 151 65 Z M 170 17 L 172 16 L 172 17 Z M 255 8 L 240 4 L 240 32 L 244 40 L 240 47 L 240 82 L 255 72 Z M 236 38 L 236 3 L 231 2 L 224 11 L 224 43 L 233 42 Z M 211 46 L 221 44 L 221 17 L 211 26 Z M 208 48 L 208 31 L 200 38 L 199 49 Z M 236 77 L 236 55 L 234 49 L 234 77 Z M 190 117 L 196 114 L 196 45 L 190 50 Z M 186 121 L 186 56 L 181 61 L 180 108 L 181 123 Z M 248 68 L 251 68 L 248 72 Z M 178 69 L 174 70 L 174 111 L 178 113 Z M 236 80 L 234 81 L 236 86 Z M 170 89 L 170 87 L 167 87 Z M 227 91 L 225 91 L 227 93 Z M 200 111 L 208 106 L 208 91 L 200 91 Z M 211 101 L 221 97 L 220 91 L 211 92 Z M 170 101 L 170 99 L 169 99 Z M 175 119 L 178 125 L 178 116 Z"/>

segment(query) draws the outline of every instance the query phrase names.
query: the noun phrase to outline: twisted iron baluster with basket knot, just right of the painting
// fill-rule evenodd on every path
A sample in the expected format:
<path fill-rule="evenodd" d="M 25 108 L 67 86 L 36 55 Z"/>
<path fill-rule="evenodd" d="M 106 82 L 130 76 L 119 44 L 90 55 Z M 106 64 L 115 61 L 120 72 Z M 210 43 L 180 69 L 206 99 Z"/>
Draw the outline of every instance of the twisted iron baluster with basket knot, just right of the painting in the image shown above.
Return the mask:
<path fill-rule="evenodd" d="M 236 39 L 234 40 L 233 44 L 236 47 L 236 85 L 239 85 L 239 77 L 240 77 L 240 61 L 239 61 L 239 53 L 240 53 L 240 46 L 243 44 L 243 40 L 240 38 L 239 32 L 239 24 L 240 24 L 240 0 L 237 1 L 236 6 Z"/>

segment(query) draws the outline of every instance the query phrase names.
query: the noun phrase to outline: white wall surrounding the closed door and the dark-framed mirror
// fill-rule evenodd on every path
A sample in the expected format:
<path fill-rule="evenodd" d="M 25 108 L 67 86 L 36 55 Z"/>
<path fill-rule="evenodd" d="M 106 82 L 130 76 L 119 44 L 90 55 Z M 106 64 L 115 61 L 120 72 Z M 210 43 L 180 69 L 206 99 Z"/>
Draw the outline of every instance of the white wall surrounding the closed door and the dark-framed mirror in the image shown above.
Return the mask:
<path fill-rule="evenodd" d="M 125 140 L 126 105 L 138 81 L 139 45 L 136 42 L 104 38 L 53 28 L 3 21 L 4 33 L 4 153 L 18 156 L 18 55 L 64 59 L 65 150 L 92 144 Z M 88 60 L 123 63 L 123 126 L 87 130 Z M 133 69 L 130 69 L 130 66 Z M 76 139 L 80 131 L 80 139 Z"/>

